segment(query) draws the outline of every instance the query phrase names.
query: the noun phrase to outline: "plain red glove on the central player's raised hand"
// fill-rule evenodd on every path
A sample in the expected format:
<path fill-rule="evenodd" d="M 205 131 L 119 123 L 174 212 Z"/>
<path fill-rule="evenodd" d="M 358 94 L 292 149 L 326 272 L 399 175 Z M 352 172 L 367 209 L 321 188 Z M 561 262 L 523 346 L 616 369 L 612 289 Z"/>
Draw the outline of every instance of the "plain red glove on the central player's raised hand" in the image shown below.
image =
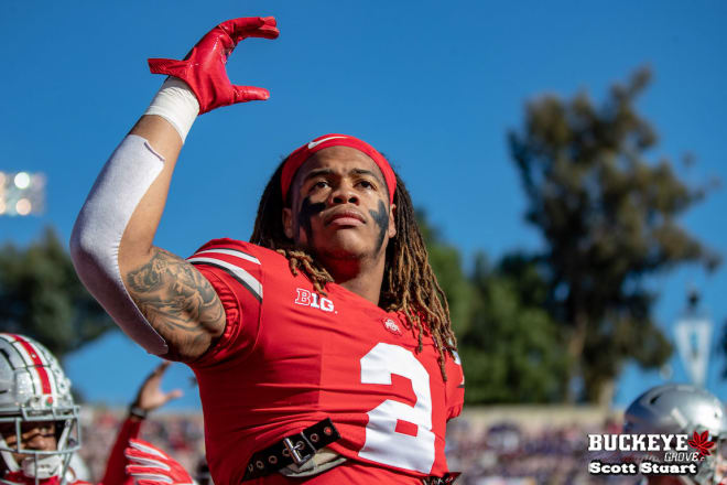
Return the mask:
<path fill-rule="evenodd" d="M 154 74 L 178 77 L 189 85 L 199 101 L 199 115 L 220 106 L 270 97 L 268 89 L 235 86 L 225 71 L 227 57 L 238 42 L 247 37 L 275 39 L 280 32 L 272 17 L 247 17 L 220 23 L 207 32 L 184 61 L 150 58 Z"/>

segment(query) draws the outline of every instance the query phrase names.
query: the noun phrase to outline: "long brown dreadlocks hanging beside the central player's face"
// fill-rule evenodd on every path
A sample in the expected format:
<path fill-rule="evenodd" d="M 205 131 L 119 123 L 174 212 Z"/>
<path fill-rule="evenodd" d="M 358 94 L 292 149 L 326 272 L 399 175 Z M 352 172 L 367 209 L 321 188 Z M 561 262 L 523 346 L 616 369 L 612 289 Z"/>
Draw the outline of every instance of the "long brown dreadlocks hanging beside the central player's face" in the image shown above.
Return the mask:
<path fill-rule="evenodd" d="M 326 295 L 330 273 L 305 250 L 295 247 L 283 228 L 283 193 L 281 174 L 287 159 L 275 170 L 260 198 L 250 242 L 280 252 L 289 260 L 291 272 L 302 271 L 315 290 Z M 287 197 L 290 201 L 291 197 Z M 430 266 L 428 252 L 416 224 L 416 216 L 404 182 L 397 174 L 394 201 L 397 236 L 387 246 L 383 281 L 379 306 L 388 312 L 402 313 L 406 327 L 416 336 L 417 352 L 423 337 L 431 335 L 440 353 L 440 369 L 447 380 L 445 353 L 454 357 L 457 338 L 452 331 L 447 299 Z"/>

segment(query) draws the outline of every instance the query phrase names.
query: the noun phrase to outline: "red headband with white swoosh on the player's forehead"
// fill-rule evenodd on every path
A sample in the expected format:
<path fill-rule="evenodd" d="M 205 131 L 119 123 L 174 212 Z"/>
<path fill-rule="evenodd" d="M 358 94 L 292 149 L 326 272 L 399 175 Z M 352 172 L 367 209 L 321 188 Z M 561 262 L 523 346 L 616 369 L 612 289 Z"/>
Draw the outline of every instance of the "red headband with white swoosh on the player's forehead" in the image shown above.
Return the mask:
<path fill-rule="evenodd" d="M 300 169 L 313 153 L 328 147 L 350 147 L 369 155 L 379 170 L 381 170 L 383 180 L 387 182 L 387 187 L 389 187 L 389 203 L 393 204 L 393 194 L 397 190 L 397 175 L 394 175 L 387 159 L 366 141 L 359 140 L 356 137 L 339 133 L 328 133 L 318 137 L 310 143 L 299 148 L 287 157 L 287 161 L 283 166 L 283 173 L 280 177 L 281 188 L 283 190 L 283 201 L 285 201 L 285 197 L 287 196 L 287 191 L 293 183 L 293 177 L 295 176 L 297 169 Z"/>

